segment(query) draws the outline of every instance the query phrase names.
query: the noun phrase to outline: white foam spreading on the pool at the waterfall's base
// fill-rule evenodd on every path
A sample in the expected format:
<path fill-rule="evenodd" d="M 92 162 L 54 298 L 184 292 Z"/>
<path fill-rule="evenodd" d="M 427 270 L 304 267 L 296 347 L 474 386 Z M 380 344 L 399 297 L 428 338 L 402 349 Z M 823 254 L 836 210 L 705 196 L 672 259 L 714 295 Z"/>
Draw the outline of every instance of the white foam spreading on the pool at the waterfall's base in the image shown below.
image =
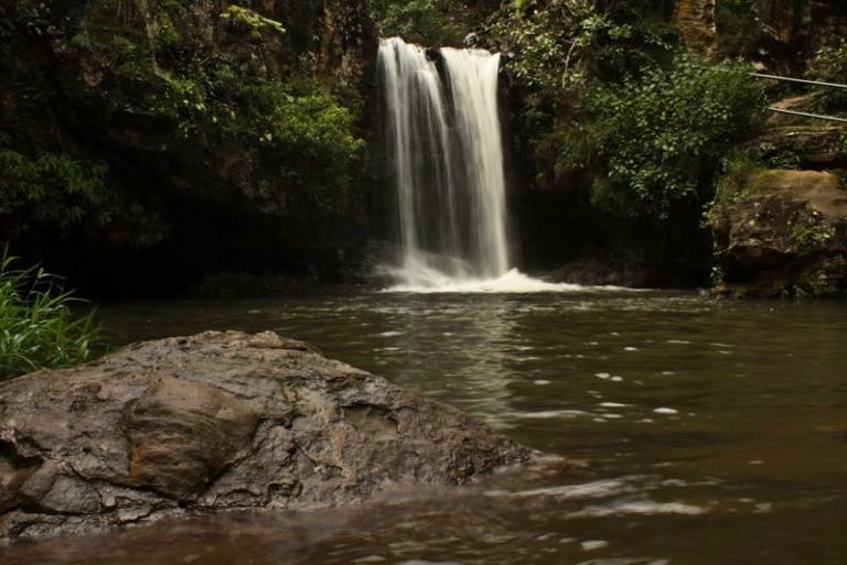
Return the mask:
<path fill-rule="evenodd" d="M 521 294 L 537 292 L 590 292 L 590 291 L 626 291 L 621 286 L 582 286 L 580 284 L 551 283 L 533 279 L 517 269 L 493 279 L 473 279 L 450 276 L 435 269 L 416 269 L 408 272 L 403 269 L 393 271 L 399 284 L 390 286 L 385 292 L 408 292 L 417 294 L 435 293 L 490 293 Z"/>

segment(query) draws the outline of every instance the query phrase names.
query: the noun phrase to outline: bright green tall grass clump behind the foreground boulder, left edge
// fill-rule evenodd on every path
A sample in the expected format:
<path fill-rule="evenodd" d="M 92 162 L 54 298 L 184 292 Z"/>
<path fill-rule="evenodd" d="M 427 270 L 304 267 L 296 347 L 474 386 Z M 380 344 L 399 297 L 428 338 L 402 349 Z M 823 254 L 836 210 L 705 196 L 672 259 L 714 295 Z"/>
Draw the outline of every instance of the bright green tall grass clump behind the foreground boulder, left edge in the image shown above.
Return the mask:
<path fill-rule="evenodd" d="M 15 269 L 15 260 L 7 251 L 0 259 L 0 381 L 88 360 L 94 311 L 75 316 L 71 306 L 83 301 L 42 269 Z"/>

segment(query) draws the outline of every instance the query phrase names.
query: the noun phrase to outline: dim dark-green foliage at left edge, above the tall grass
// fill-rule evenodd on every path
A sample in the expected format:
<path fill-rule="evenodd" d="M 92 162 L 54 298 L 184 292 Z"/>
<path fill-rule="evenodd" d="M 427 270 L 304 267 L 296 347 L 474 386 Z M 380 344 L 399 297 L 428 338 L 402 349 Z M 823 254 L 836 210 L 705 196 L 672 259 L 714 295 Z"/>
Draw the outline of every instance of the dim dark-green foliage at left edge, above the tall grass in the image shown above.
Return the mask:
<path fill-rule="evenodd" d="M 0 132 L 0 216 L 14 217 L 23 230 L 97 232 L 129 229 L 130 242 L 144 247 L 161 240 L 164 227 L 138 206 L 124 202 L 106 185 L 106 165 L 63 152 L 30 157 L 10 148 Z"/>

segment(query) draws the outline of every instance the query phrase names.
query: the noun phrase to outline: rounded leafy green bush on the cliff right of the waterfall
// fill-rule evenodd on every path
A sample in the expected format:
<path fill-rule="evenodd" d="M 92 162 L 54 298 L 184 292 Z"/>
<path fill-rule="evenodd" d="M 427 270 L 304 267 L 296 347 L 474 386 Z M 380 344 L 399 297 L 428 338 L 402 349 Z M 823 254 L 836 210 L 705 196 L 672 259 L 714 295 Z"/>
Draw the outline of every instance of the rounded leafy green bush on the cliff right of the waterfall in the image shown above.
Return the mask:
<path fill-rule="evenodd" d="M 758 127 L 761 89 L 740 65 L 705 67 L 678 56 L 621 85 L 586 96 L 575 133 L 588 150 L 562 169 L 592 167 L 597 206 L 625 216 L 666 217 L 675 203 L 711 198 L 714 164 Z M 585 155 L 594 154 L 593 163 Z"/>

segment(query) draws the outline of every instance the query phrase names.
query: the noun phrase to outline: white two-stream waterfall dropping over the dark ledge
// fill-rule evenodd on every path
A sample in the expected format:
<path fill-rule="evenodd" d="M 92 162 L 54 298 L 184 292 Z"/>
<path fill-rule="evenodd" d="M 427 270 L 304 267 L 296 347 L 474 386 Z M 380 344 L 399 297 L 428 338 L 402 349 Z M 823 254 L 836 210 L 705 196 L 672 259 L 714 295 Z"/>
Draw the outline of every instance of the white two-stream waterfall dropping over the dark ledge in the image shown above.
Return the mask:
<path fill-rule="evenodd" d="M 510 269 L 500 55 L 383 40 L 385 139 L 410 286 L 492 280 Z"/>

